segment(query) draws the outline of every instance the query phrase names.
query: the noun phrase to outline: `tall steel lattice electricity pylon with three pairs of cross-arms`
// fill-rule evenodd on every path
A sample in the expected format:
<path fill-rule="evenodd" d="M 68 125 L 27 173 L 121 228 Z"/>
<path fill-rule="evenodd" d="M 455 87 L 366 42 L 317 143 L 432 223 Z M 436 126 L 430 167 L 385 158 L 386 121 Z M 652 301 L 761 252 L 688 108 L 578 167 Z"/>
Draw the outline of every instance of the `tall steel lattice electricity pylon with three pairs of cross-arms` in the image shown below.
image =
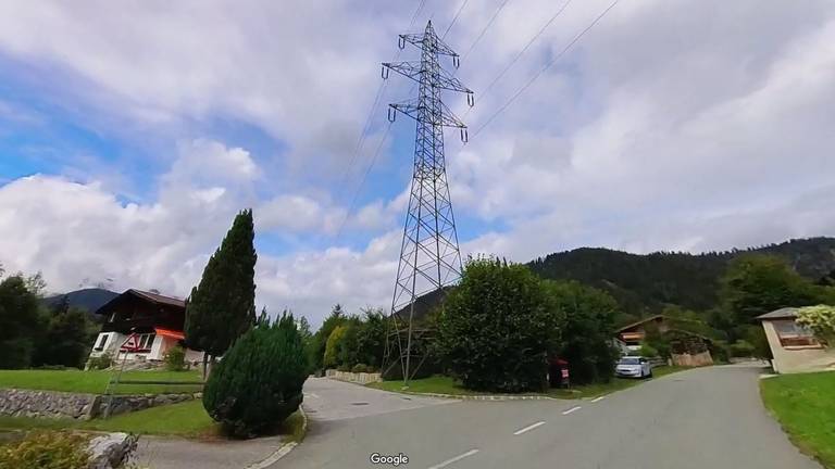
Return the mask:
<path fill-rule="evenodd" d="M 383 64 L 384 79 L 388 78 L 389 71 L 395 71 L 419 85 L 418 98 L 390 104 L 388 110 L 389 122 L 394 122 L 400 112 L 418 123 L 414 173 L 383 359 L 386 369 L 394 366 L 395 357 L 399 356 L 406 382 L 425 359 L 422 351 L 415 353 L 413 346 L 415 300 L 449 286 L 461 275 L 461 254 L 444 159 L 444 127 L 460 129 L 461 140 L 465 142 L 466 126 L 444 104 L 440 92 L 466 93 L 468 103 L 473 105 L 473 92 L 440 66 L 439 56 L 448 55 L 458 67 L 459 55 L 438 38 L 431 21 L 423 34 L 400 35 L 399 48 L 403 49 L 407 43 L 421 49 L 420 62 Z M 408 318 L 404 317 L 407 310 Z M 414 368 L 412 358 L 418 362 Z"/>

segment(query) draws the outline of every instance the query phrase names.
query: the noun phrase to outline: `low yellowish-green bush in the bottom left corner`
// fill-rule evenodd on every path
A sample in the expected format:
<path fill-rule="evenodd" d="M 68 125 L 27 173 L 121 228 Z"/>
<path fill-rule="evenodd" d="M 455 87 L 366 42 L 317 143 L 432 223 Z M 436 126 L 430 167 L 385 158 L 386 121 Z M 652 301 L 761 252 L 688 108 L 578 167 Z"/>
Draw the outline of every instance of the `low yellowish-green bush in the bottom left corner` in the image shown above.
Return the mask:
<path fill-rule="evenodd" d="M 0 469 L 87 469 L 87 436 L 38 431 L 0 446 Z"/>

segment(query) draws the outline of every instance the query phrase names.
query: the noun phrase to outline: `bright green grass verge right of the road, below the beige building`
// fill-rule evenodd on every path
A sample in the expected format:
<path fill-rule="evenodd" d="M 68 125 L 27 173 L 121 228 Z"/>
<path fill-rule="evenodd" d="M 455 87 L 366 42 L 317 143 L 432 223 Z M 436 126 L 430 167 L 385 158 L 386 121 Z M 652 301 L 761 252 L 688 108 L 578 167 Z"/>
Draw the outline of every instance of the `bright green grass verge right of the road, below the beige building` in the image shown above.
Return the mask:
<path fill-rule="evenodd" d="M 800 449 L 835 469 L 835 372 L 783 375 L 760 381 L 765 407 Z"/>

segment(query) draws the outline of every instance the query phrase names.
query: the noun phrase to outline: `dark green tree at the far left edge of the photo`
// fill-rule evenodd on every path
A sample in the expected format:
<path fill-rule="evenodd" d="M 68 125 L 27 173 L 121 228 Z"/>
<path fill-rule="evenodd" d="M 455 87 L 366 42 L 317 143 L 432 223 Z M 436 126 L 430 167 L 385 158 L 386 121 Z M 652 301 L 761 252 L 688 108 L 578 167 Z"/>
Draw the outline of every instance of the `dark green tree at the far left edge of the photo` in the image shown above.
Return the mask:
<path fill-rule="evenodd" d="M 47 326 L 39 302 L 23 277 L 8 277 L 0 282 L 0 368 L 32 365 Z"/>

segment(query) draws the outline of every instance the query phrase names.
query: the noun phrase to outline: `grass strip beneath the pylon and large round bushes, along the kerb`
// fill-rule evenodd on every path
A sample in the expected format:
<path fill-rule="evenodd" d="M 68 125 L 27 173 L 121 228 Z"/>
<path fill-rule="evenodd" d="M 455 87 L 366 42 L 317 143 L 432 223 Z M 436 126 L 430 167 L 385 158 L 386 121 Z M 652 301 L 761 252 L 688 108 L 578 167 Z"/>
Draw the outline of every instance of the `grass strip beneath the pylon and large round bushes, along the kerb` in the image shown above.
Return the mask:
<path fill-rule="evenodd" d="M 675 371 L 682 371 L 684 369 L 687 369 L 687 368 L 675 367 L 675 366 L 658 367 L 652 370 L 652 375 L 655 375 L 655 377 L 658 378 L 664 375 L 670 375 Z M 559 397 L 559 398 L 595 397 L 601 394 L 608 394 L 614 391 L 620 391 L 622 389 L 631 388 L 636 384 L 640 384 L 644 381 L 646 380 L 614 378 L 612 379 L 611 382 L 605 383 L 605 384 L 579 385 L 579 386 L 574 386 L 571 390 L 553 389 L 553 390 L 550 390 L 547 394 L 523 393 L 523 394 L 516 394 L 516 395 L 549 395 L 551 397 Z M 402 385 L 403 385 L 402 381 L 383 381 L 383 382 L 367 384 L 369 388 L 375 388 L 375 389 L 394 391 L 394 392 L 403 391 L 401 389 Z M 436 375 L 429 378 L 412 380 L 409 383 L 409 389 L 406 391 L 413 392 L 413 393 L 437 393 L 437 394 L 452 394 L 452 395 L 486 395 L 486 394 L 496 395 L 497 394 L 497 393 L 470 391 L 468 389 L 464 389 L 460 382 L 453 380 L 452 378 L 440 376 L 440 375 Z M 509 394 L 509 395 L 512 395 L 512 394 Z"/>

